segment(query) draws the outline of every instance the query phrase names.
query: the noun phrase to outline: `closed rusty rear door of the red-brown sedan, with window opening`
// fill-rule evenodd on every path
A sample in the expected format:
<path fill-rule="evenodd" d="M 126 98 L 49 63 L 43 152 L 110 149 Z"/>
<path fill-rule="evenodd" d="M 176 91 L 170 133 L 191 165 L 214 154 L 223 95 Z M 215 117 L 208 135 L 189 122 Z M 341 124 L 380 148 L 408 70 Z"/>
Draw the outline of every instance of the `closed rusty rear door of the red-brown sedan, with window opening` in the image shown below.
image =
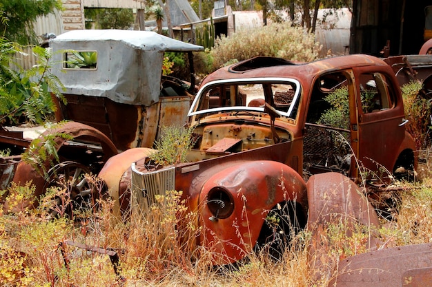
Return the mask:
<path fill-rule="evenodd" d="M 400 89 L 384 70 L 355 70 L 358 160 L 364 178 L 387 181 L 404 140 L 404 109 Z"/>

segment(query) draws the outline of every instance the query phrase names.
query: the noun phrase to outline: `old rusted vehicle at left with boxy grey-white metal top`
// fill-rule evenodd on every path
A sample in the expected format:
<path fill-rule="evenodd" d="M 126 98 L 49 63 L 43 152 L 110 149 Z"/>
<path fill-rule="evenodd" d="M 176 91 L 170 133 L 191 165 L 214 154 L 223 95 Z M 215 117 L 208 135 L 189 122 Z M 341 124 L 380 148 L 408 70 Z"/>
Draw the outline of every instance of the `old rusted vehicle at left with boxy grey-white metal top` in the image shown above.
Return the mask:
<path fill-rule="evenodd" d="M 52 157 L 41 162 L 44 176 L 21 161 L 31 140 L 22 132 L 1 131 L 0 149 L 11 151 L 0 159 L 1 189 L 12 181 L 23 185 L 31 180 L 35 194 L 41 195 L 59 181 L 71 182 L 71 197 L 81 201 L 91 198 L 85 173 L 97 174 L 119 151 L 152 147 L 159 127 L 186 122 L 196 92 L 192 52 L 204 48 L 155 32 L 129 30 L 74 30 L 50 39 L 50 48 L 52 74 L 66 88 L 67 103 L 54 98 L 56 120 L 68 122 L 46 131 L 40 140 L 61 133 L 74 140 L 56 138 L 59 161 Z M 188 53 L 188 81 L 162 76 L 164 52 Z"/>

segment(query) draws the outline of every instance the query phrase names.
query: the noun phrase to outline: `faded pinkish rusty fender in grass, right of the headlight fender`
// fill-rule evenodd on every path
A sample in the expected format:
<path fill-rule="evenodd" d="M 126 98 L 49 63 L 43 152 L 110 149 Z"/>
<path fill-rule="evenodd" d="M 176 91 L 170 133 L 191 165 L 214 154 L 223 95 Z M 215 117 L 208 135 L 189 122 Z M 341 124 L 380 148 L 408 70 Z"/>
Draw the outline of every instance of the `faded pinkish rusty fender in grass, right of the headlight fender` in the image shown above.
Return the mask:
<path fill-rule="evenodd" d="M 380 220 L 360 187 L 342 173 L 320 173 L 309 178 L 308 189 L 308 231 L 312 244 L 308 253 L 308 263 L 315 279 L 330 275 L 335 266 L 322 262 L 328 255 L 329 246 L 326 228 L 331 224 L 344 224 L 346 236 L 353 233 L 354 224 L 368 226 L 369 240 L 366 250 L 380 245 L 377 230 Z"/>

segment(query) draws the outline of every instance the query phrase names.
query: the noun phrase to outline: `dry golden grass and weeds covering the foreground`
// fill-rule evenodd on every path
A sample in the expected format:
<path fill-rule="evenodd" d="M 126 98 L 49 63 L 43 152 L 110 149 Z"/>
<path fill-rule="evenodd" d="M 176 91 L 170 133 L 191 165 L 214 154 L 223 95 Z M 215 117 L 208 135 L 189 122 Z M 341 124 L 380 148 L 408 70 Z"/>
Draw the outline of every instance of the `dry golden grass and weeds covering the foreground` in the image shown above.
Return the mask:
<path fill-rule="evenodd" d="M 432 242 L 430 184 L 429 178 L 405 184 L 400 214 L 397 221 L 383 222 L 379 247 Z M 0 214 L 0 286 L 326 286 L 333 276 L 327 270 L 317 278 L 309 270 L 309 231 L 297 235 L 278 262 L 266 253 L 252 253 L 235 268 L 212 266 L 211 252 L 195 244 L 197 215 L 184 212 L 175 191 L 159 198 L 146 217 L 132 213 L 124 222 L 112 217 L 109 200 L 79 223 L 50 217 L 49 202 L 28 213 Z M 182 222 L 188 224 L 177 228 Z M 328 227 L 333 248 L 322 262 L 335 265 L 339 258 L 364 251 L 359 249 L 364 230 L 358 228 L 350 241 L 344 227 Z M 59 248 L 65 240 L 112 248 L 119 255 L 118 274 L 108 255 L 74 246 L 63 250 L 65 264 Z"/>

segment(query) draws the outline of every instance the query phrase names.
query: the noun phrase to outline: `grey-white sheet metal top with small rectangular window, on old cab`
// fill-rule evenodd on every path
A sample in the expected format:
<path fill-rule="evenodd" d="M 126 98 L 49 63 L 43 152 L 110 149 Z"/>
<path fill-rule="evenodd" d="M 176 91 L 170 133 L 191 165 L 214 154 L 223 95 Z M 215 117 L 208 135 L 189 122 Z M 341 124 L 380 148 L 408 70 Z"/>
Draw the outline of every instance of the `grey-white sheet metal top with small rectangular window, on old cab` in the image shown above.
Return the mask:
<path fill-rule="evenodd" d="M 73 30 L 50 40 L 52 72 L 65 94 L 107 97 L 117 103 L 152 105 L 159 101 L 164 52 L 204 47 L 137 30 Z M 65 69 L 63 50 L 96 51 L 96 69 Z M 65 73 L 66 72 L 66 73 Z"/>

